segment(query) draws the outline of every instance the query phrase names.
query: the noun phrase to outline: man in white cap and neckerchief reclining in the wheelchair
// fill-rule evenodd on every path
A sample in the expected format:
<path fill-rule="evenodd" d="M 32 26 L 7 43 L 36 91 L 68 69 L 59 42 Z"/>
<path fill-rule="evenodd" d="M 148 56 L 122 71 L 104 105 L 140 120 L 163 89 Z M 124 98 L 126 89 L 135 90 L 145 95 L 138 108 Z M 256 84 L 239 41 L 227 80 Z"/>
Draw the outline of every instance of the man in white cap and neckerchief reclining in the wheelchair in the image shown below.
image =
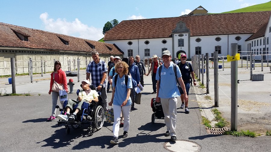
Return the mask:
<path fill-rule="evenodd" d="M 65 107 L 66 115 L 59 114 L 58 115 L 59 120 L 74 121 L 76 118 L 76 114 L 81 114 L 83 112 L 83 109 L 81 108 L 83 102 L 86 102 L 89 105 L 93 101 L 98 102 L 98 96 L 99 96 L 98 93 L 96 92 L 96 90 L 91 90 L 89 85 L 90 85 L 90 83 L 88 80 L 82 81 L 83 90 L 81 90 L 79 92 L 78 99 L 77 100 L 73 100 L 73 99 L 68 100 L 68 103 Z M 73 106 L 76 104 L 78 104 L 78 106 L 76 107 L 75 111 L 72 114 L 70 114 L 70 112 L 73 111 Z"/>

